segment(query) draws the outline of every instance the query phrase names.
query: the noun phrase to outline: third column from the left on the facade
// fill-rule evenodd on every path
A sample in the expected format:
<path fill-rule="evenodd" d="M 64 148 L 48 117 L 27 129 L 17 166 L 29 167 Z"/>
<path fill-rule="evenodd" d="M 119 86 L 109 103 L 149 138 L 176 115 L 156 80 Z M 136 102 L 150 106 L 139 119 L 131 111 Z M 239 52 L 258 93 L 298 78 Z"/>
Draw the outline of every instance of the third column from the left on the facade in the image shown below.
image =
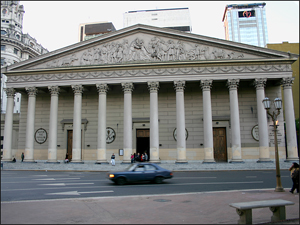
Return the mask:
<path fill-rule="evenodd" d="M 49 120 L 49 145 L 47 163 L 59 163 L 57 161 L 57 116 L 58 116 L 58 86 L 48 86 L 51 94 L 50 120 Z"/>

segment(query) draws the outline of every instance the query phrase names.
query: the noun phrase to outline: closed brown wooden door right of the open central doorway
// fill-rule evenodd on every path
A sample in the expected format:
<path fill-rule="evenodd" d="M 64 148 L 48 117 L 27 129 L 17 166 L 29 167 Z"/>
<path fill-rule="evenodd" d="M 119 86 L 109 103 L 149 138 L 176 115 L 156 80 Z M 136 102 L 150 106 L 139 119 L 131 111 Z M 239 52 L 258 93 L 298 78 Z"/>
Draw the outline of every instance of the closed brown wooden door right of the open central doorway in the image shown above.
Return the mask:
<path fill-rule="evenodd" d="M 226 128 L 214 127 L 214 158 L 216 162 L 227 162 Z"/>

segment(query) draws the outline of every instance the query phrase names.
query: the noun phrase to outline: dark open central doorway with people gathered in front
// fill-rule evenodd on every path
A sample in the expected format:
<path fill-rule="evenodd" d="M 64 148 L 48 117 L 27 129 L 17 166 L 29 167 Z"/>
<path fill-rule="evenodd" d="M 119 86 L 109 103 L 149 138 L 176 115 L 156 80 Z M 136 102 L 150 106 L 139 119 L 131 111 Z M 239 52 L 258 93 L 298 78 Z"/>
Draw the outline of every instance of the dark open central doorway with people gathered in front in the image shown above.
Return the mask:
<path fill-rule="evenodd" d="M 150 160 L 150 129 L 136 130 L 136 153 L 147 153 Z"/>

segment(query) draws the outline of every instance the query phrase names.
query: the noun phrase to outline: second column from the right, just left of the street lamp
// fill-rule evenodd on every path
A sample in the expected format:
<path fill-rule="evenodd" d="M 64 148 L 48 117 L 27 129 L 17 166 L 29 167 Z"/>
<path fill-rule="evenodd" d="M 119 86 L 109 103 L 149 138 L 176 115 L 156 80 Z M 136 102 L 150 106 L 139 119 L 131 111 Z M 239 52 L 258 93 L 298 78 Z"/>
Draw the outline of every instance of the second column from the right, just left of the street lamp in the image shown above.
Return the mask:
<path fill-rule="evenodd" d="M 265 110 L 263 99 L 265 98 L 265 85 L 267 79 L 255 79 L 254 85 L 256 88 L 257 100 L 257 116 L 258 116 L 258 133 L 259 133 L 259 160 L 261 162 L 272 162 L 270 159 L 269 150 L 269 130 L 267 121 L 267 111 Z"/>

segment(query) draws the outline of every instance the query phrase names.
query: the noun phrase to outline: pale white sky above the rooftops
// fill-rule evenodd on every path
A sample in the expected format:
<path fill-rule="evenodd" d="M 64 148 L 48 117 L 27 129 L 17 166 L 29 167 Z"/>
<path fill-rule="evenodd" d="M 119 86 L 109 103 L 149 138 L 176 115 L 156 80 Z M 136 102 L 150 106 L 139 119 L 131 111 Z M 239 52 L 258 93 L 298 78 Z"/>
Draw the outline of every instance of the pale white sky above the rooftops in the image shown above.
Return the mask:
<path fill-rule="evenodd" d="M 227 4 L 266 3 L 269 43 L 299 43 L 298 1 L 20 1 L 23 33 L 49 51 L 78 42 L 79 24 L 112 22 L 123 27 L 123 14 L 134 10 L 188 7 L 192 33 L 225 39 L 222 22 Z"/>

